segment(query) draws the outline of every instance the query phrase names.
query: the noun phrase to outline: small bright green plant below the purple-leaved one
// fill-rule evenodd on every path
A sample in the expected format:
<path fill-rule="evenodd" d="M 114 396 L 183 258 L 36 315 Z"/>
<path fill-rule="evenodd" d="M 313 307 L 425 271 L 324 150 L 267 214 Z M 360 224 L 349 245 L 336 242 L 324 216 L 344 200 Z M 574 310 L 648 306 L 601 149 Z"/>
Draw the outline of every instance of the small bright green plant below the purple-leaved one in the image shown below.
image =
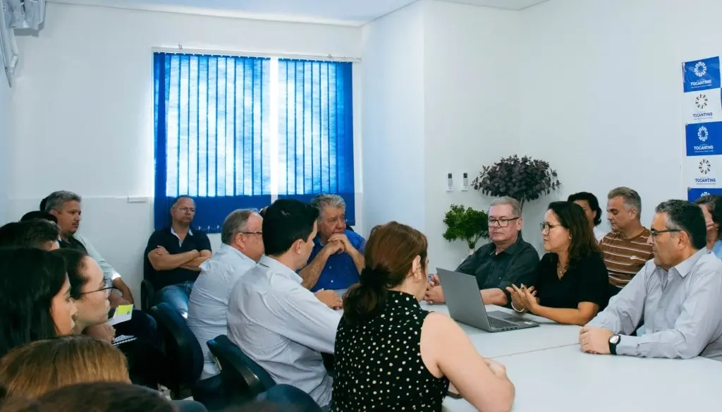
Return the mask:
<path fill-rule="evenodd" d="M 489 216 L 483 210 L 471 207 L 451 205 L 444 217 L 446 231 L 443 236 L 448 241 L 463 240 L 469 246 L 469 254 L 474 253 L 479 239 L 489 237 Z"/>

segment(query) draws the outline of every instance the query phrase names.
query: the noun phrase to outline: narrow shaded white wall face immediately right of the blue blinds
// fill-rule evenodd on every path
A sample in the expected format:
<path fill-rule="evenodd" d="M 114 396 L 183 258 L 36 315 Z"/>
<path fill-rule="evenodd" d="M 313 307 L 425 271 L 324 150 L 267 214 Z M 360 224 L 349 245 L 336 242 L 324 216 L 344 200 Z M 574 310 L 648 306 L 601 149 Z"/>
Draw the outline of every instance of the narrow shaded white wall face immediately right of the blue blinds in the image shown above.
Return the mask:
<path fill-rule="evenodd" d="M 421 3 L 375 20 L 362 36 L 363 214 L 425 230 L 424 27 Z"/>

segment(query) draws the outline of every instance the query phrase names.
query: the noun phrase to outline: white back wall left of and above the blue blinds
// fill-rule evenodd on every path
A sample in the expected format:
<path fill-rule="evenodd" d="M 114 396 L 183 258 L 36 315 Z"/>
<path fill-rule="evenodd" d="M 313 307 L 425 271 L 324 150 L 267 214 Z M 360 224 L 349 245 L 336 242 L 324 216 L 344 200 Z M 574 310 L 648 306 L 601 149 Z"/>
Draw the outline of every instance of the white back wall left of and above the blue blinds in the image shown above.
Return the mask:
<path fill-rule="evenodd" d="M 40 34 L 18 38 L 8 218 L 53 190 L 81 194 L 82 232 L 138 293 L 152 204 L 127 197 L 153 195 L 152 48 L 359 57 L 360 38 L 355 27 L 49 3 Z"/>

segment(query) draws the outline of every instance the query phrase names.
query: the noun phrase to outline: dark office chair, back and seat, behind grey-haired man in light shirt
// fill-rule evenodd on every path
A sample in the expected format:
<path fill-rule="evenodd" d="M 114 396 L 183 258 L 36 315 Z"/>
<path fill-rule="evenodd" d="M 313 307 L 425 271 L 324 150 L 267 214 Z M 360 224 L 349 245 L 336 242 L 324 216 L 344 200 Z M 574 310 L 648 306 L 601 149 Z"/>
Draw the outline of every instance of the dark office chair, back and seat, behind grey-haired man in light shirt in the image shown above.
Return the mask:
<path fill-rule="evenodd" d="M 150 308 L 150 314 L 158 324 L 168 358 L 162 373 L 162 383 L 168 386 L 176 398 L 181 396 L 181 388 L 190 387 L 193 399 L 209 409 L 229 405 L 220 377 L 199 380 L 203 371 L 203 351 L 196 336 L 188 328 L 186 319 L 165 302 Z"/>

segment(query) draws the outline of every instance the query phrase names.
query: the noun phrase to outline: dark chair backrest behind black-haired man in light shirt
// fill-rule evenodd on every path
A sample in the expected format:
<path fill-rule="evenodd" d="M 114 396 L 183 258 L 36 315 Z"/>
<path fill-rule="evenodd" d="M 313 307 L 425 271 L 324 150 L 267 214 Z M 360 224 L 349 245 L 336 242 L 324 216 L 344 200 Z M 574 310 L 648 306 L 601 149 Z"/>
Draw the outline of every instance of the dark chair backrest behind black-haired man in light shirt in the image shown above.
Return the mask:
<path fill-rule="evenodd" d="M 276 385 L 271 375 L 226 335 L 209 340 L 208 348 L 220 364 L 223 380 L 230 388 L 245 388 L 246 394 L 254 397 Z"/>

